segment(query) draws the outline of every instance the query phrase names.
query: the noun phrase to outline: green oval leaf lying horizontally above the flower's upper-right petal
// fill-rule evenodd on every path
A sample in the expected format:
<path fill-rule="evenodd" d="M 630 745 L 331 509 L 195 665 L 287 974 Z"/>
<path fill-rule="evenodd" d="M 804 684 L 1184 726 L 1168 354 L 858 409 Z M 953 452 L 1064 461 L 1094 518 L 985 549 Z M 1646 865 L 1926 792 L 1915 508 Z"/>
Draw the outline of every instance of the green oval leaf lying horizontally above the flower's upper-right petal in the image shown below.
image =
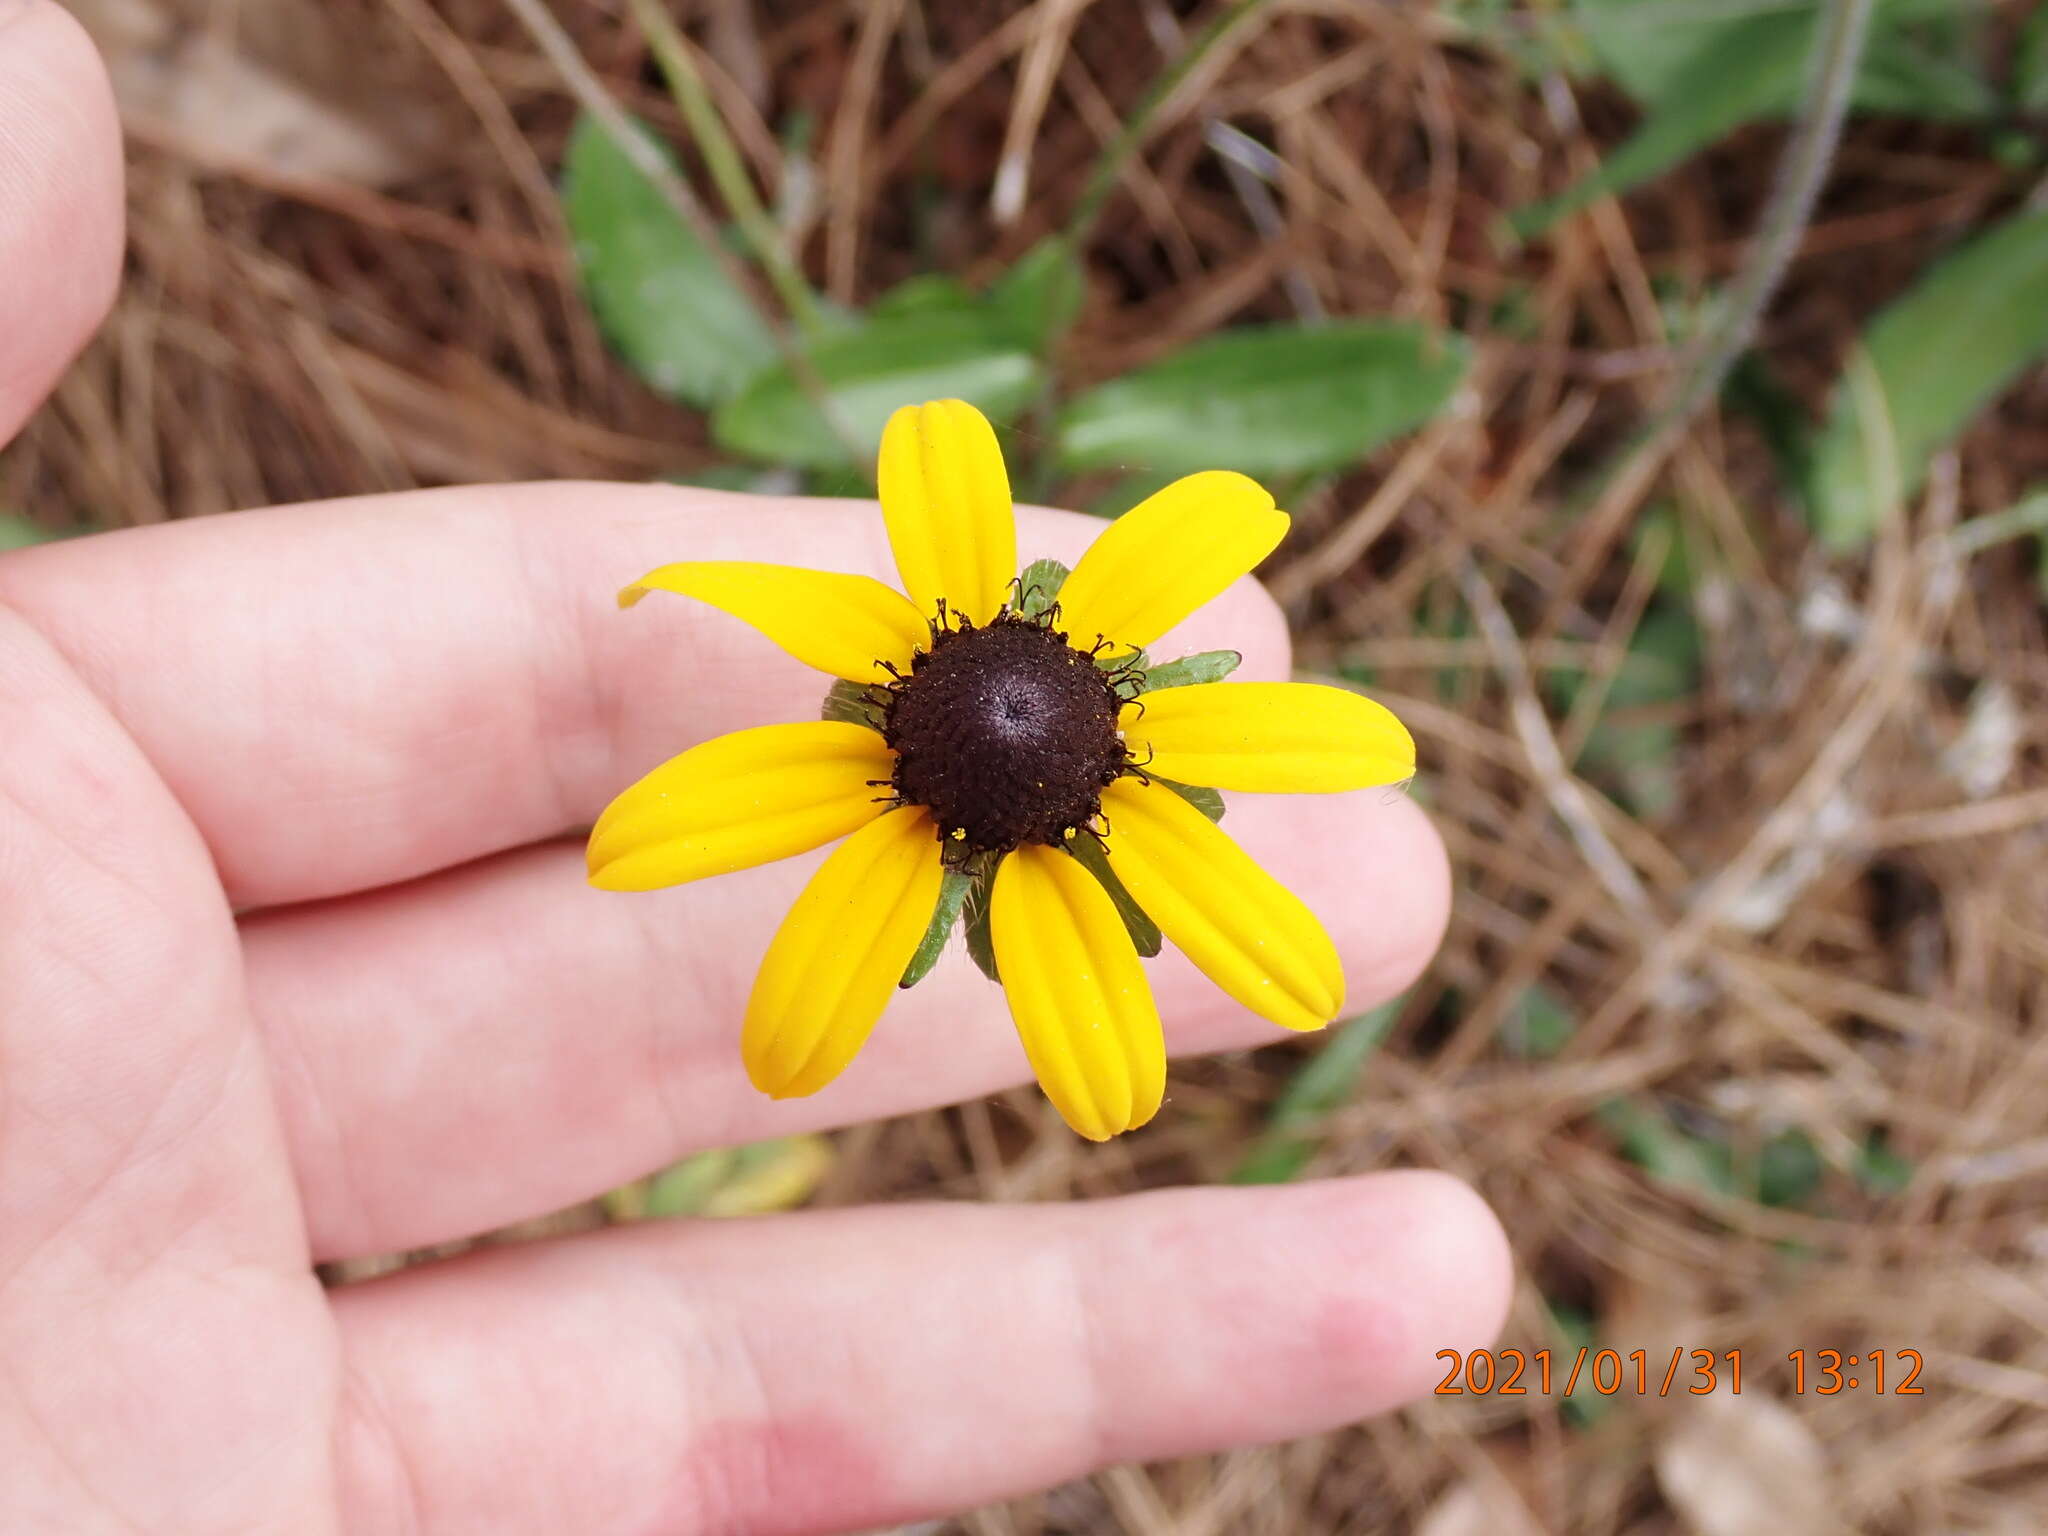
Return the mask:
<path fill-rule="evenodd" d="M 1427 422 L 1464 338 L 1403 322 L 1247 326 L 1090 389 L 1059 416 L 1067 469 L 1341 469 Z"/>

